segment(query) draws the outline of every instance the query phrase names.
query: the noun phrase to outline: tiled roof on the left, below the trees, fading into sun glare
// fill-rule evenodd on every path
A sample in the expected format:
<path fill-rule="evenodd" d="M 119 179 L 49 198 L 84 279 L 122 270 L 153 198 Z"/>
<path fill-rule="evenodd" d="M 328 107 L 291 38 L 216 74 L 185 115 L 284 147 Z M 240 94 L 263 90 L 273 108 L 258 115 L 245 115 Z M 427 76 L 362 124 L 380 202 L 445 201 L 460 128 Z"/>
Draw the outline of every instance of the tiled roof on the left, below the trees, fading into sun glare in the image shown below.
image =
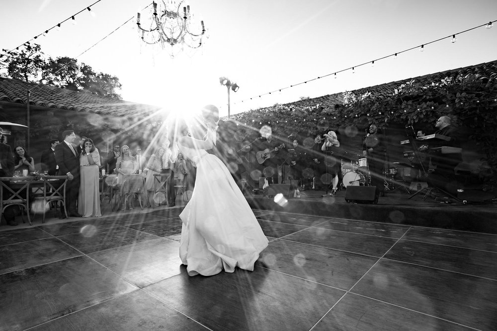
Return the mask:
<path fill-rule="evenodd" d="M 53 108 L 55 110 L 127 117 L 136 115 L 147 116 L 160 109 L 157 106 L 116 100 L 90 93 L 1 77 L 0 102 L 26 104 L 28 89 L 30 91 L 30 105 Z"/>

